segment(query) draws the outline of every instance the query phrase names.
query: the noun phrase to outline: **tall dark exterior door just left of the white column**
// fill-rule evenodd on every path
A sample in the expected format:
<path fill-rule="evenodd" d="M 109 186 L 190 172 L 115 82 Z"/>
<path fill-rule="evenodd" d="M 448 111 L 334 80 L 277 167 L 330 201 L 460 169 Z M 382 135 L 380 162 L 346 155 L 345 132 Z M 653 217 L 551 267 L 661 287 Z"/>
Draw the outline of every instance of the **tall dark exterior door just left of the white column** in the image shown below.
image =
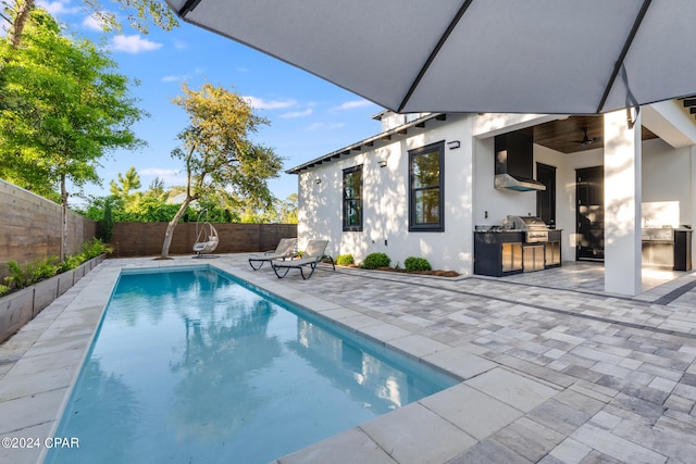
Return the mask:
<path fill-rule="evenodd" d="M 577 200 L 576 260 L 605 259 L 605 170 L 604 166 L 575 170 Z"/>

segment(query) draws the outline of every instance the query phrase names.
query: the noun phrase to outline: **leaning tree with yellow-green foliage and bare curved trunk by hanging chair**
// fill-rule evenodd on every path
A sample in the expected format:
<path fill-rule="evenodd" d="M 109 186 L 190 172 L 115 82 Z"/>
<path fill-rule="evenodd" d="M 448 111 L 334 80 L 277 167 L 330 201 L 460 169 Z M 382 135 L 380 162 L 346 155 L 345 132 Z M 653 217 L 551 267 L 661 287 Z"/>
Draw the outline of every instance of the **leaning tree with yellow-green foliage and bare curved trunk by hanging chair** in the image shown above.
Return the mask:
<path fill-rule="evenodd" d="M 186 166 L 186 197 L 166 227 L 162 259 L 167 258 L 174 227 L 191 201 L 224 187 L 241 200 L 271 205 L 266 180 L 282 168 L 282 159 L 272 149 L 250 140 L 269 121 L 256 115 L 245 99 L 211 84 L 198 91 L 185 84 L 183 91 L 173 102 L 188 113 L 190 124 L 178 135 L 182 147 L 172 156 Z"/>

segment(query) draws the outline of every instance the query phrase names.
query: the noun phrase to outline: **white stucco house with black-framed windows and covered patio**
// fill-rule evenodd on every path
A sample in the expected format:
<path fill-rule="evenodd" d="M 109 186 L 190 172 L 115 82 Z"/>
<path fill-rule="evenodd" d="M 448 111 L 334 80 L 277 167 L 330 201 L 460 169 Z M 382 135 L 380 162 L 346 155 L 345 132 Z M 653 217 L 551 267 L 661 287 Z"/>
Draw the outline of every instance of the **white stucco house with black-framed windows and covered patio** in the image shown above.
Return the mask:
<path fill-rule="evenodd" d="M 681 265 L 696 258 L 684 227 L 696 225 L 692 104 L 601 116 L 384 111 L 380 134 L 288 171 L 298 175 L 300 241 L 328 239 L 327 252 L 357 262 L 380 251 L 393 264 L 421 256 L 472 275 L 490 258 L 475 230 L 489 242 L 517 231 L 508 215 L 533 216 L 556 237 L 547 264 L 549 252 L 604 261 L 605 289 L 637 294 L 643 266 L 675 265 L 675 237 L 689 241 L 678 246 L 678 261 L 688 254 Z M 531 271 L 522 261 L 535 243 L 520 237 L 494 256 L 511 260 L 502 274 Z"/>

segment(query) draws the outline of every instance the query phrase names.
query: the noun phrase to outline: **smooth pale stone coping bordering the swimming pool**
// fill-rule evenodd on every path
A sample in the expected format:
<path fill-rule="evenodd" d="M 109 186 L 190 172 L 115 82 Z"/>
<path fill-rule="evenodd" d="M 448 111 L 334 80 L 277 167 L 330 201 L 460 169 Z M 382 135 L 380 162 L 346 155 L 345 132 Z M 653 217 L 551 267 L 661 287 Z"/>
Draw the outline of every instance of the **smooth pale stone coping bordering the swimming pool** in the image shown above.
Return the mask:
<path fill-rule="evenodd" d="M 10 362 L 0 363 L 0 367 L 10 366 L 0 371 L 0 437 L 40 440 L 54 437 L 121 269 L 181 265 L 219 268 L 345 329 L 463 379 L 439 393 L 282 456 L 275 461 L 278 464 L 447 462 L 572 384 L 562 377 L 558 384 L 532 377 L 463 348 L 361 314 L 340 302 L 308 294 L 297 281 L 288 285 L 269 269 L 245 268 L 245 255 L 228 255 L 214 262 L 191 261 L 189 256 L 170 261 L 108 260 L 2 347 L 0 361 L 8 351 L 21 355 L 12 359 L 10 354 Z M 321 285 L 316 280 L 307 281 L 314 284 Z M 480 421 L 470 419 L 472 411 L 481 416 Z M 24 449 L 3 447 L 0 461 L 42 462 L 48 449 L 46 443 L 39 444 Z"/>

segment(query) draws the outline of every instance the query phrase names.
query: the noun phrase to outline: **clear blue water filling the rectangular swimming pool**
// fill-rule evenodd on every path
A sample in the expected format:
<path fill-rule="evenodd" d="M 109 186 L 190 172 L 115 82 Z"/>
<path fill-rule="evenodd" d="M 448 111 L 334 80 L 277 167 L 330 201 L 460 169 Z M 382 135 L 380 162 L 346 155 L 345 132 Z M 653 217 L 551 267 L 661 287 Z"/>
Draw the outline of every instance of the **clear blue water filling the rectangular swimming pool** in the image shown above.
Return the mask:
<path fill-rule="evenodd" d="M 214 268 L 121 275 L 48 463 L 268 463 L 457 380 Z"/>

